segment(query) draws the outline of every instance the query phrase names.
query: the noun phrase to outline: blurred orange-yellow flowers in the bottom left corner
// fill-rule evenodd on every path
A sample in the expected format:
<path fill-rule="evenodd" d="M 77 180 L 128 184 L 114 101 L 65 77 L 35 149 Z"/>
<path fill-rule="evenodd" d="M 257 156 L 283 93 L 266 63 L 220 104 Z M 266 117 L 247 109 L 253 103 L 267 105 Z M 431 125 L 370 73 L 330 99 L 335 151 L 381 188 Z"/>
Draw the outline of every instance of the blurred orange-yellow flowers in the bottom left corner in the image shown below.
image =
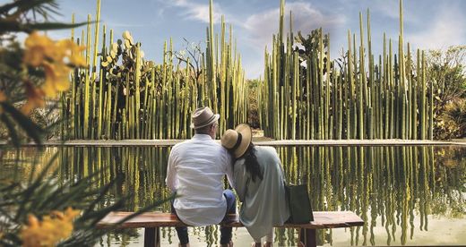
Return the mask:
<path fill-rule="evenodd" d="M 73 233 L 73 218 L 79 213 L 71 208 L 65 213 L 53 211 L 50 216 L 42 217 L 42 221 L 29 215 L 28 226 L 22 228 L 22 246 L 55 246 Z"/>

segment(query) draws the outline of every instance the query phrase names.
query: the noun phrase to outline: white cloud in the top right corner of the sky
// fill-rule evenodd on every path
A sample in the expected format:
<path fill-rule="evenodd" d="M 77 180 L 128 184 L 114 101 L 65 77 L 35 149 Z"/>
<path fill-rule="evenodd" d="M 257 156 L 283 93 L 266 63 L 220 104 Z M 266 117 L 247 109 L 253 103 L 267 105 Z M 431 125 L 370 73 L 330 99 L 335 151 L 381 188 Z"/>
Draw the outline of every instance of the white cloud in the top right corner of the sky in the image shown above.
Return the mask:
<path fill-rule="evenodd" d="M 405 34 L 405 41 L 421 49 L 439 49 L 466 43 L 466 18 L 453 6 L 444 6 L 424 30 Z"/>

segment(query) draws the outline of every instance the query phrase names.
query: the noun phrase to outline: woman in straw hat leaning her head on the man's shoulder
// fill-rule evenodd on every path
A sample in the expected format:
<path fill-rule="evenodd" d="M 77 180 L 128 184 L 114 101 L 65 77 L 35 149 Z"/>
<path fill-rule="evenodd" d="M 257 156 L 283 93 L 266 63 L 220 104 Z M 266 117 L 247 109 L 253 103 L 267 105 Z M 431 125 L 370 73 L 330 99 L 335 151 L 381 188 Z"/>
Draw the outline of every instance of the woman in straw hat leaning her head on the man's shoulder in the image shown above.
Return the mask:
<path fill-rule="evenodd" d="M 283 172 L 277 151 L 272 147 L 255 147 L 249 125 L 239 124 L 221 137 L 221 144 L 233 157 L 233 180 L 242 202 L 239 220 L 253 237 L 253 246 L 272 246 L 273 226 L 289 218 L 283 186 Z"/>

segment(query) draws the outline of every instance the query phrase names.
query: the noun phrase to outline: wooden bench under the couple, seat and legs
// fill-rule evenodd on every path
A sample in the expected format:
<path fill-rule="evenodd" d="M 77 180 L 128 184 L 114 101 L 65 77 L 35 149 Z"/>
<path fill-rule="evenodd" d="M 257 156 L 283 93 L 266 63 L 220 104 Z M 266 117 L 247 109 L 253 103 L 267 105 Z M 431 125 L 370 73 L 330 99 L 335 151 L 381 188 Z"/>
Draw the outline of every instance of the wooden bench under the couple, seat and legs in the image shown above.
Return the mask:
<path fill-rule="evenodd" d="M 117 222 L 121 221 L 133 212 L 111 212 L 97 224 L 98 228 L 113 227 Z M 229 215 L 229 223 L 220 223 L 221 226 L 243 227 L 239 222 L 239 216 Z M 350 226 L 363 226 L 364 221 L 355 213 L 350 211 L 342 212 L 314 212 L 314 221 L 308 224 L 285 224 L 286 228 L 301 228 L 304 231 L 304 236 L 301 236 L 305 246 L 316 246 L 315 230 L 326 228 L 340 228 Z M 116 226 L 117 228 L 145 228 L 144 230 L 144 246 L 154 247 L 160 246 L 160 227 L 165 226 L 186 226 L 181 222 L 176 215 L 161 212 L 143 213 L 137 217 L 127 220 L 125 223 Z"/>

